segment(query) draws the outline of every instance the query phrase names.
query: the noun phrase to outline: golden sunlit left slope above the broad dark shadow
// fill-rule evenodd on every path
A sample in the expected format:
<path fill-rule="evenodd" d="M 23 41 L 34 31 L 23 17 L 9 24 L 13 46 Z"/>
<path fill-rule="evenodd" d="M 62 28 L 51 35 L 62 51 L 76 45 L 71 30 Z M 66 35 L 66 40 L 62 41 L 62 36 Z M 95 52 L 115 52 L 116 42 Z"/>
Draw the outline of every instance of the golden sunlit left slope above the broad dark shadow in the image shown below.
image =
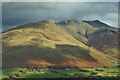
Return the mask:
<path fill-rule="evenodd" d="M 54 47 L 55 44 L 70 43 L 85 46 L 51 21 L 30 23 L 5 32 L 3 43 L 9 46 L 40 44 L 39 46 Z"/>

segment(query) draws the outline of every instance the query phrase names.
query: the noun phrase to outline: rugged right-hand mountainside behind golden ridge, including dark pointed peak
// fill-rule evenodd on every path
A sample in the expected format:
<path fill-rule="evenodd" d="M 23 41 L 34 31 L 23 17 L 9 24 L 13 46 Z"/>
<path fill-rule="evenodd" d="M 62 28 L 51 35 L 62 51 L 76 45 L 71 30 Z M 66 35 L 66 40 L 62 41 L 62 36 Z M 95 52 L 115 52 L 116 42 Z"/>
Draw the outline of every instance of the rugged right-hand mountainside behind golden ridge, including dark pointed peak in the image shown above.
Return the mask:
<path fill-rule="evenodd" d="M 88 24 L 87 24 L 88 23 Z M 94 47 L 112 57 L 118 58 L 118 29 L 99 20 L 65 20 L 57 23 L 75 39 Z"/>

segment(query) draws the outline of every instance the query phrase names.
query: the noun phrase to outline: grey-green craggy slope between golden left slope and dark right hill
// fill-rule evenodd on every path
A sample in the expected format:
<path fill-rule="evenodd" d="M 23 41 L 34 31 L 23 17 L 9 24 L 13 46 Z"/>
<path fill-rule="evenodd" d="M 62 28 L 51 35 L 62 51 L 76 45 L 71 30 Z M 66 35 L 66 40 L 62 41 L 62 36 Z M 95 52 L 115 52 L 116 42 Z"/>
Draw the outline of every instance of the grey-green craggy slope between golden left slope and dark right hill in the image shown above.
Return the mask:
<path fill-rule="evenodd" d="M 72 35 L 75 39 L 84 44 L 88 44 L 87 35 L 93 33 L 98 30 L 98 28 L 92 27 L 85 22 L 81 22 L 79 20 L 65 20 L 56 23 L 65 32 Z"/>

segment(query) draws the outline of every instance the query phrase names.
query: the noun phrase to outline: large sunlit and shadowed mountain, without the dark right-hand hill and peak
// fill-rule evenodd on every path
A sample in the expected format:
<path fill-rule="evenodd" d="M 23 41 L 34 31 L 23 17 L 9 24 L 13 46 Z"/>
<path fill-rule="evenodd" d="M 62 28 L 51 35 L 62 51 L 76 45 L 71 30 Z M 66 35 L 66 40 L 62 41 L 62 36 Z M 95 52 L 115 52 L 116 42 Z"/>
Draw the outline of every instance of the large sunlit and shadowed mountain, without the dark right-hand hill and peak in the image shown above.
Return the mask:
<path fill-rule="evenodd" d="M 45 20 L 7 30 L 2 33 L 3 68 L 23 65 L 109 66 L 106 63 L 115 58 L 88 46 L 92 45 L 89 42 L 94 42 L 99 30 L 79 20 L 57 23 Z"/>

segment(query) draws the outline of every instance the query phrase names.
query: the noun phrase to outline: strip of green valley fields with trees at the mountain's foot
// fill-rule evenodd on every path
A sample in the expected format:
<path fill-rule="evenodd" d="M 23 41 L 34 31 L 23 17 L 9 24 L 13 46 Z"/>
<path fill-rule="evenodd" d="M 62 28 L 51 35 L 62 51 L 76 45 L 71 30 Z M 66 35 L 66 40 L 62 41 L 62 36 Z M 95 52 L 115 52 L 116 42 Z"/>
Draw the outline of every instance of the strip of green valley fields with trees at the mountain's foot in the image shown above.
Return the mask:
<path fill-rule="evenodd" d="M 23 72 L 20 72 L 23 70 Z M 34 71 L 31 71 L 34 70 Z M 71 69 L 27 69 L 24 67 L 3 69 L 2 78 L 78 78 L 89 76 L 118 77 L 118 68 L 71 68 Z M 20 74 L 17 76 L 17 74 Z"/>

